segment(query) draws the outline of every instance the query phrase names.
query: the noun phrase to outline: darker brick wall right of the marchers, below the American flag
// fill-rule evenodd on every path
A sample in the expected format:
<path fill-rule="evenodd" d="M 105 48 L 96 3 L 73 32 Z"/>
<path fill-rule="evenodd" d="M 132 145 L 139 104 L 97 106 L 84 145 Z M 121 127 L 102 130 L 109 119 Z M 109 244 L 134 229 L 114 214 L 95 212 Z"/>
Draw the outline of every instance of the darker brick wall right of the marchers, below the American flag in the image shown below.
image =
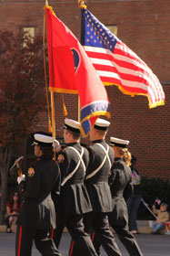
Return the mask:
<path fill-rule="evenodd" d="M 166 98 L 169 86 L 164 87 Z M 165 106 L 148 109 L 144 96 L 129 97 L 116 87 L 107 89 L 112 105 L 112 126 L 109 136 L 130 141 L 129 151 L 137 157 L 139 172 L 143 176 L 169 179 L 169 101 Z"/>

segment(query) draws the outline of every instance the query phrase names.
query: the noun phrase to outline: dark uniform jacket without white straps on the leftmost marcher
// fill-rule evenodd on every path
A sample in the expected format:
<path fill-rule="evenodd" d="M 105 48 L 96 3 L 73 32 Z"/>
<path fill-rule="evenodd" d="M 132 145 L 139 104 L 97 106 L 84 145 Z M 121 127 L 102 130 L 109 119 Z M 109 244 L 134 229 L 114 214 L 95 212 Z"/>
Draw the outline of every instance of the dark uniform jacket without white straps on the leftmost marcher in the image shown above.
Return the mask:
<path fill-rule="evenodd" d="M 60 190 L 60 170 L 53 160 L 38 158 L 25 172 L 19 190 L 25 194 L 17 224 L 34 229 L 55 229 L 55 206 L 51 198 Z"/>

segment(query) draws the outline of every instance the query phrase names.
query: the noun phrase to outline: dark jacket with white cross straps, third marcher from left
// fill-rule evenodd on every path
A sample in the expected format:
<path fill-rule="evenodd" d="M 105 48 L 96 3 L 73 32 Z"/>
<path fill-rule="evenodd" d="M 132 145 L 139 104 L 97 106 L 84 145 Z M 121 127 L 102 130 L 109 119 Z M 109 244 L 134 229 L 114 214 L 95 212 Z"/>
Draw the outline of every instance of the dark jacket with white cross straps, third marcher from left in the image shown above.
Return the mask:
<path fill-rule="evenodd" d="M 90 161 L 87 168 L 86 177 L 92 174 L 95 169 L 102 164 L 105 158 L 105 151 L 98 144 L 102 144 L 105 147 L 105 150 L 107 148 L 105 140 L 94 141 L 93 144 L 88 148 Z M 114 163 L 114 151 L 110 146 L 108 155 L 112 166 Z M 112 210 L 112 197 L 110 187 L 108 186 L 109 171 L 110 165 L 108 159 L 106 158 L 105 164 L 95 174 L 95 176 L 85 179 L 85 186 L 87 187 L 93 211 L 95 212 L 109 212 Z"/>

